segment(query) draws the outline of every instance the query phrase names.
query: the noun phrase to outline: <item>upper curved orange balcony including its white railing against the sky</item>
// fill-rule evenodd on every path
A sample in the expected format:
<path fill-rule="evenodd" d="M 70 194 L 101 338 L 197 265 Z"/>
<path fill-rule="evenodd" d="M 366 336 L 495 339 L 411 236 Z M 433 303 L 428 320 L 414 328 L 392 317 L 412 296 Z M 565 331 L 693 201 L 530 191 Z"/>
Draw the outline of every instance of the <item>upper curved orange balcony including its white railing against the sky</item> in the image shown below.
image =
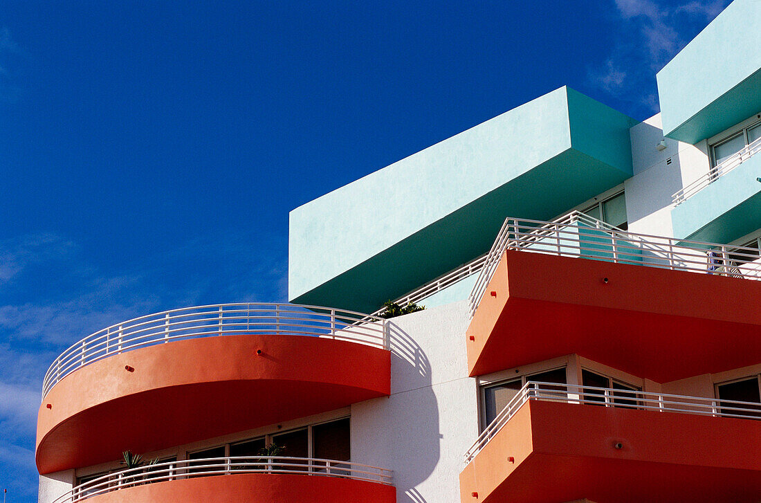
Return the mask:
<path fill-rule="evenodd" d="M 387 396 L 384 320 L 313 309 L 196 307 L 83 339 L 46 377 L 38 470 L 89 466 L 123 450 L 159 450 Z"/>

